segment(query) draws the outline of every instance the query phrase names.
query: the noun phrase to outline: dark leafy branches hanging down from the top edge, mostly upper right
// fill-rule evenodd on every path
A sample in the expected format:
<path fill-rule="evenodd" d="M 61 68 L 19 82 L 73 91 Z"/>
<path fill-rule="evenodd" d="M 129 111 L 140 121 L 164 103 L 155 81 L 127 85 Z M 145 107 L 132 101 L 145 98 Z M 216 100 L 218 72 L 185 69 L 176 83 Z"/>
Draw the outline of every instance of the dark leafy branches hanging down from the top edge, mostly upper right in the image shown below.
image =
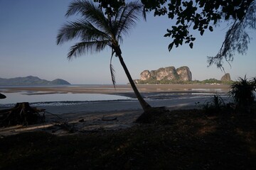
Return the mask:
<path fill-rule="evenodd" d="M 94 0 L 105 8 L 107 13 L 113 13 L 125 0 Z M 217 55 L 208 57 L 209 66 L 215 64 L 223 69 L 223 60 L 233 61 L 235 52 L 245 54 L 250 36 L 247 30 L 256 29 L 256 3 L 254 0 L 141 0 L 145 11 L 154 11 L 154 16 L 167 15 L 174 26 L 167 29 L 165 37 L 171 37 L 169 50 L 187 43 L 193 48 L 196 40 L 191 29 L 198 30 L 203 35 L 206 30 L 213 31 L 221 21 L 228 21 L 229 29 Z"/>

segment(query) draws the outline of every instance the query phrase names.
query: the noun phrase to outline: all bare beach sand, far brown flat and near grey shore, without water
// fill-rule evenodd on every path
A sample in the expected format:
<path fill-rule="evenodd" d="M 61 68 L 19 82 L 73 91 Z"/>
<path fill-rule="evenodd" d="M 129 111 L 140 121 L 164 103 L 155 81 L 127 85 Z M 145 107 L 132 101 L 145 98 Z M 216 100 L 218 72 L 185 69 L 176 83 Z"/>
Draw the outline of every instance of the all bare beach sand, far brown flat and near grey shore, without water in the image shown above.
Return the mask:
<path fill-rule="evenodd" d="M 225 94 L 229 90 L 228 85 L 202 85 L 202 84 L 171 84 L 171 85 L 138 85 L 139 91 L 146 101 L 154 107 L 164 106 L 169 110 L 198 108 L 196 103 L 205 103 L 209 95 L 196 95 L 186 97 L 168 98 L 169 94 L 185 93 L 201 94 L 206 91 L 210 94 Z M 0 89 L 3 91 L 3 89 Z M 1 92 L 0 91 L 0 92 Z M 78 94 L 113 94 L 134 97 L 133 91 L 128 85 L 116 86 L 36 86 L 36 87 L 12 87 L 4 88 L 4 91 L 40 91 L 41 93 L 78 93 Z M 154 96 L 152 99 L 151 96 Z M 156 98 L 157 96 L 157 98 Z M 61 125 L 68 125 L 74 132 L 87 130 L 119 130 L 134 125 L 139 115 L 143 113 L 137 100 L 127 101 L 93 101 L 85 103 L 67 104 L 62 106 L 38 106 L 46 109 L 46 123 L 17 125 L 9 128 L 1 128 L 0 135 L 13 135 L 19 132 L 45 130 L 56 135 L 67 135 L 68 132 Z"/>

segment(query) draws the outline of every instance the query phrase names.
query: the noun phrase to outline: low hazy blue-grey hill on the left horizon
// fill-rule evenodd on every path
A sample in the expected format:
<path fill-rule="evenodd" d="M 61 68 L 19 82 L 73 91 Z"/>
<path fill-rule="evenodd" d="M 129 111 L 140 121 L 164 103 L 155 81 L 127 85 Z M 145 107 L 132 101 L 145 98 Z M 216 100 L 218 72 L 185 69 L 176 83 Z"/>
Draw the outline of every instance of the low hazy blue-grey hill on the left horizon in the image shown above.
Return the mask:
<path fill-rule="evenodd" d="M 68 81 L 63 79 L 55 79 L 53 81 L 48 81 L 46 79 L 40 79 L 38 77 L 28 76 L 28 77 L 16 77 L 11 79 L 0 78 L 0 85 L 65 85 L 70 84 Z"/>

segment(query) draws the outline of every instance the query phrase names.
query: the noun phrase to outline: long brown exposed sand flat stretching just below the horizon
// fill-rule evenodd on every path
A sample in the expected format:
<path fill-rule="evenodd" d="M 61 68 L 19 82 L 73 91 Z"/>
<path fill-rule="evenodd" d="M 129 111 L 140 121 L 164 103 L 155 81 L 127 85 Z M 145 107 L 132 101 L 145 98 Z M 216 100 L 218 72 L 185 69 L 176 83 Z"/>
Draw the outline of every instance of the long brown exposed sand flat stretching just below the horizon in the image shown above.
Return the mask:
<path fill-rule="evenodd" d="M 200 92 L 208 89 L 209 92 L 221 90 L 226 93 L 230 86 L 225 84 L 138 84 L 137 88 L 142 93 L 149 92 Z M 132 88 L 129 85 L 86 85 L 86 86 L 17 86 L 4 87 L 6 92 L 17 91 L 42 91 L 45 93 L 79 93 L 79 94 L 123 94 L 131 93 Z M 1 86 L 0 86 L 1 91 Z"/>

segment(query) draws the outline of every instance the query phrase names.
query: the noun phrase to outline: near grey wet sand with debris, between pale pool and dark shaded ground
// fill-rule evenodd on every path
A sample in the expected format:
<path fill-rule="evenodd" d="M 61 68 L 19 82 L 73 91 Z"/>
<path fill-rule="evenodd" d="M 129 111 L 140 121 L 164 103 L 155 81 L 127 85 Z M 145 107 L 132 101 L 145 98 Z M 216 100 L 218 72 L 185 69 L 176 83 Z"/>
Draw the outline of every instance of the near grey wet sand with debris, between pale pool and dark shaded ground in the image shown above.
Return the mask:
<path fill-rule="evenodd" d="M 180 98 L 174 100 L 147 101 L 153 107 L 166 107 L 169 111 L 196 109 L 196 102 L 203 104 L 209 96 L 201 98 Z M 0 137 L 16 135 L 21 132 L 43 131 L 53 135 L 71 135 L 86 131 L 122 130 L 131 128 L 143 110 L 138 101 L 101 101 L 80 103 L 73 106 L 40 106 L 46 113 L 46 123 L 36 125 L 16 125 L 0 128 Z M 105 121 L 105 120 L 107 121 Z M 68 125 L 75 133 L 63 128 Z"/>

